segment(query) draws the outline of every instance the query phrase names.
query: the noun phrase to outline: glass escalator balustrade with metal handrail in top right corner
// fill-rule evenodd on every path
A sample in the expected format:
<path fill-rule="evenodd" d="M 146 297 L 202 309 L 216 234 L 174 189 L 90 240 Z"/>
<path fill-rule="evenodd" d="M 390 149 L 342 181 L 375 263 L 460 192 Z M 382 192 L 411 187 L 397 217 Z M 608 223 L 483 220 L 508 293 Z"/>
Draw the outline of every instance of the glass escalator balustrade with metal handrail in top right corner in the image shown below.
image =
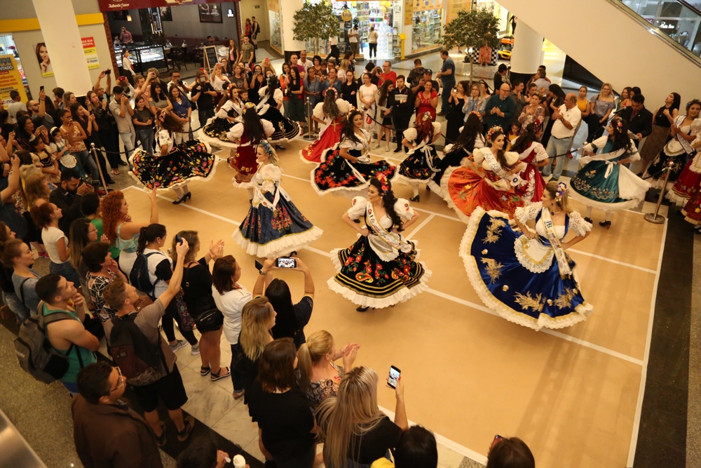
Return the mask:
<path fill-rule="evenodd" d="M 608 0 L 674 50 L 701 67 L 701 2 L 685 0 Z M 694 0 L 692 0 L 694 1 Z"/>

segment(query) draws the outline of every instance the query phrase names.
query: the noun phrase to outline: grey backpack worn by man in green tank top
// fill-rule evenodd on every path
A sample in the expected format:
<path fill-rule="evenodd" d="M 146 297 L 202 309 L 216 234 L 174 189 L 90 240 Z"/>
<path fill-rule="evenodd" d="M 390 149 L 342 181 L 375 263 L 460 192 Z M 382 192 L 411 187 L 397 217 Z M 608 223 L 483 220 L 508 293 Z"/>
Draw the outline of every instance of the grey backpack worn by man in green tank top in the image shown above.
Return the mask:
<path fill-rule="evenodd" d="M 68 371 L 68 356 L 74 348 L 68 348 L 66 354 L 56 351 L 51 347 L 51 342 L 46 337 L 46 326 L 62 320 L 74 320 L 73 316 L 63 312 L 54 312 L 48 316 L 42 313 L 43 301 L 39 302 L 36 315 L 32 315 L 20 326 L 20 334 L 15 339 L 15 354 L 20 361 L 20 366 L 25 372 L 32 375 L 39 382 L 50 384 L 59 380 Z M 83 368 L 83 358 L 80 352 L 78 360 Z"/>

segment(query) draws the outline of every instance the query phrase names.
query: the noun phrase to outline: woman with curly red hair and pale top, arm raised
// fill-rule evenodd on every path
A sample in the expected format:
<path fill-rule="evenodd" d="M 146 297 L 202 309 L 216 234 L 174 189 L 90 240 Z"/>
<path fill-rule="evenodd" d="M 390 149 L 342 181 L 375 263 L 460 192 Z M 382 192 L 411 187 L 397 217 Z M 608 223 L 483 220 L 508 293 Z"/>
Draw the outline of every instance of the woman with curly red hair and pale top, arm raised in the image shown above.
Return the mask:
<path fill-rule="evenodd" d="M 129 215 L 129 204 L 121 190 L 109 192 L 102 199 L 102 228 L 109 241 L 121 250 L 117 261 L 119 269 L 127 278 L 136 260 L 141 228 L 158 222 L 156 187 L 149 192 L 149 199 L 151 199 L 151 219 L 149 222 L 132 221 Z"/>

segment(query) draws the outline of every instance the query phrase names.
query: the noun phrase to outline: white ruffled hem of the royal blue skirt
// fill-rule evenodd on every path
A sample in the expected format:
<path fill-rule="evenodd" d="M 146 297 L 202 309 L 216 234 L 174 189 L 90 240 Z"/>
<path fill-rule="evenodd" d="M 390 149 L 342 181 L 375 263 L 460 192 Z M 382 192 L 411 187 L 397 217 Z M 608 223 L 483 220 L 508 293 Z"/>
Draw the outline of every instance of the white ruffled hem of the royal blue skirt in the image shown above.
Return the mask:
<path fill-rule="evenodd" d="M 494 312 L 499 314 L 503 319 L 506 319 L 513 323 L 517 323 L 521 326 L 532 328 L 536 331 L 540 330 L 540 328 L 543 327 L 551 329 L 566 328 L 569 326 L 573 326 L 576 323 L 579 323 L 580 321 L 585 321 L 587 319 L 587 316 L 590 315 L 594 310 L 594 306 L 588 304 L 587 302 L 584 302 L 583 304 L 578 305 L 576 307 L 576 314 L 569 314 L 569 316 L 567 316 L 564 319 L 553 319 L 547 314 L 540 314 L 540 316 L 538 316 L 538 319 L 536 320 L 533 319 L 533 317 L 531 316 L 522 314 L 511 309 L 510 307 L 505 306 L 503 302 L 501 302 L 496 297 L 494 297 L 494 295 L 491 294 L 489 288 L 487 288 L 486 284 L 484 284 L 484 281 L 482 281 L 482 275 L 479 274 L 477 260 L 475 260 L 475 258 L 468 253 L 470 252 L 472 239 L 474 239 L 475 233 L 477 232 L 477 227 L 479 227 L 479 219 L 482 218 L 482 213 L 484 213 L 484 209 L 482 209 L 481 207 L 478 207 L 472 213 L 473 215 L 475 215 L 474 219 L 472 220 L 472 222 L 468 223 L 468 228 L 465 229 L 465 234 L 463 234 L 463 239 L 460 243 L 460 250 L 458 251 L 458 253 L 463 259 L 465 272 L 467 272 L 468 274 L 468 279 L 472 284 L 472 288 L 475 288 L 475 291 L 477 291 L 477 295 L 479 295 L 479 299 L 481 299 L 482 302 L 484 302 L 484 305 L 486 305 L 486 307 L 489 307 L 489 309 L 494 310 Z M 508 220 L 508 217 L 500 211 L 492 210 L 489 211 L 487 214 L 489 214 L 492 217 L 504 218 Z M 574 276 L 574 278 L 575 281 L 579 283 L 576 276 Z"/>

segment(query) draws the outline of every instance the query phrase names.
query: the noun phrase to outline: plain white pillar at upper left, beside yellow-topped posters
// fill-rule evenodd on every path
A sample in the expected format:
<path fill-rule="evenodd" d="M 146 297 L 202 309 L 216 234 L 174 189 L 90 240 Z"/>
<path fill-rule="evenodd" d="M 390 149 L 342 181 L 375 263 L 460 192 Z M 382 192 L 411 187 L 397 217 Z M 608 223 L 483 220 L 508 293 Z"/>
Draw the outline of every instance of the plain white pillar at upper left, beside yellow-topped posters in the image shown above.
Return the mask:
<path fill-rule="evenodd" d="M 56 86 L 83 95 L 93 88 L 71 0 L 32 0 Z"/>

